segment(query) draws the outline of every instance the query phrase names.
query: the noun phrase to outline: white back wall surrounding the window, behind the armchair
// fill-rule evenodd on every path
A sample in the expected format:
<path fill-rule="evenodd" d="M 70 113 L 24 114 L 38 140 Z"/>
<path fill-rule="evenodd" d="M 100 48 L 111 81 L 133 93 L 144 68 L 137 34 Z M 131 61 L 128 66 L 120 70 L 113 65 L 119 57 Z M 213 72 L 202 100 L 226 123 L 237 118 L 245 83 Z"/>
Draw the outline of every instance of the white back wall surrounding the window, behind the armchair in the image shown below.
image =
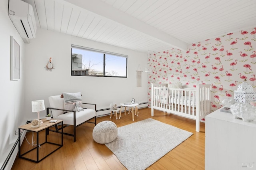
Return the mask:
<path fill-rule="evenodd" d="M 71 76 L 71 44 L 128 55 L 128 78 Z M 37 30 L 36 39 L 26 44 L 25 49 L 25 110 L 28 120 L 37 116 L 31 111 L 31 101 L 44 99 L 46 107 L 50 107 L 48 97 L 63 92 L 80 91 L 83 102 L 96 103 L 97 110 L 108 108 L 111 102 L 119 105 L 132 98 L 147 101 L 147 73 L 142 73 L 142 87 L 136 87 L 136 70 L 139 64 L 141 69 L 146 67 L 146 53 L 42 29 Z M 46 71 L 44 67 L 50 57 L 54 69 Z M 46 111 L 42 111 L 40 117 L 44 118 L 45 114 Z"/>

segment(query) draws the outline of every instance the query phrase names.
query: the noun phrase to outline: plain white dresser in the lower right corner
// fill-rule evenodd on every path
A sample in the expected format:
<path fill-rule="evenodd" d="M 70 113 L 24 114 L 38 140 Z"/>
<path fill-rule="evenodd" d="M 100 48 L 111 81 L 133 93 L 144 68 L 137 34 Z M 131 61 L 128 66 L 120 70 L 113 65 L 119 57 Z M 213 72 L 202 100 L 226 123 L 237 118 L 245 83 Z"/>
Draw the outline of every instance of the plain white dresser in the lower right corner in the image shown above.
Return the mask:
<path fill-rule="evenodd" d="M 244 122 L 220 109 L 206 116 L 206 170 L 256 170 L 256 120 Z"/>

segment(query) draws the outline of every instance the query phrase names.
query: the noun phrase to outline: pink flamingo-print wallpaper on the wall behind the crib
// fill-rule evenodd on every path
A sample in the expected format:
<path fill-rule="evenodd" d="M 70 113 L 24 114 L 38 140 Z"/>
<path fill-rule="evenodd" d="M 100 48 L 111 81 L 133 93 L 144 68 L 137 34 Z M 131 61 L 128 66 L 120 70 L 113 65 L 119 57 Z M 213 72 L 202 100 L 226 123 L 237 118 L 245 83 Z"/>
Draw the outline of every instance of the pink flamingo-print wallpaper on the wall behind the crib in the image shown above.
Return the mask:
<path fill-rule="evenodd" d="M 229 33 L 188 45 L 187 51 L 167 49 L 148 57 L 148 103 L 150 83 L 175 83 L 182 87 L 211 85 L 211 111 L 222 107 L 223 99 L 233 99 L 244 79 L 256 87 L 256 28 Z"/>

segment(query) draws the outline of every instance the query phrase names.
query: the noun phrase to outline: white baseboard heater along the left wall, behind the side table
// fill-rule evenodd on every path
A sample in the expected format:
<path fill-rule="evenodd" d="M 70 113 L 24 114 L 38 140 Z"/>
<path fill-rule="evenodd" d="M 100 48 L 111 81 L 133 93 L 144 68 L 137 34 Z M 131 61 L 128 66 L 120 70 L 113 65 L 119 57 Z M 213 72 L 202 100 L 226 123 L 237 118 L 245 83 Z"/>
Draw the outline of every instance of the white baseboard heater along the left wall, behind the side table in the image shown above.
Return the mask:
<path fill-rule="evenodd" d="M 27 122 L 28 123 L 28 122 Z M 20 133 L 20 144 L 22 144 L 24 138 L 26 135 L 26 130 L 22 130 L 22 132 Z M 19 152 L 19 148 L 18 148 L 18 143 L 19 143 L 19 138 L 17 138 L 17 140 L 14 142 L 14 145 L 12 146 L 12 149 L 10 150 L 8 156 L 6 157 L 4 163 L 2 164 L 2 167 L 0 170 L 10 170 L 12 168 L 12 165 L 16 159 L 16 156 Z"/>

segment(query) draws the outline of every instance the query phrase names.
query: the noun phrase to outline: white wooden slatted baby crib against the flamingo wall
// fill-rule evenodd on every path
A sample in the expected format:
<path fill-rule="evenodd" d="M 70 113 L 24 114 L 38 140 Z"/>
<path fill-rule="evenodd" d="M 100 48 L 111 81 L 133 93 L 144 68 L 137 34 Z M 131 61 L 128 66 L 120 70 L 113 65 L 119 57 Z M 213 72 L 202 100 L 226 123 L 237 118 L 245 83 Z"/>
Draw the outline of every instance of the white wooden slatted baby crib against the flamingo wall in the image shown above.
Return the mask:
<path fill-rule="evenodd" d="M 168 103 L 161 103 L 160 89 L 168 88 Z M 210 85 L 196 88 L 170 88 L 168 84 L 151 84 L 151 115 L 154 109 L 196 120 L 196 131 L 200 131 L 200 120 L 210 113 Z"/>

